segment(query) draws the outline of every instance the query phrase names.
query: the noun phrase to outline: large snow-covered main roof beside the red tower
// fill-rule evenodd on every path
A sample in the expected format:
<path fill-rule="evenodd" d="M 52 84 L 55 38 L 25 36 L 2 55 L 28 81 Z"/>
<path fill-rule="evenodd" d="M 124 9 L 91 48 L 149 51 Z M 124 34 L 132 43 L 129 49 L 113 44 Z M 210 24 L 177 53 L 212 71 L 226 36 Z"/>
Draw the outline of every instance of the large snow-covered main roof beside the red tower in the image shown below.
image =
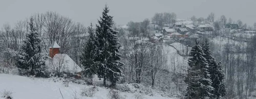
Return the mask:
<path fill-rule="evenodd" d="M 56 54 L 53 58 L 46 60 L 46 66 L 48 66 L 50 70 L 59 68 L 60 71 L 71 73 L 82 71 L 67 54 Z"/>

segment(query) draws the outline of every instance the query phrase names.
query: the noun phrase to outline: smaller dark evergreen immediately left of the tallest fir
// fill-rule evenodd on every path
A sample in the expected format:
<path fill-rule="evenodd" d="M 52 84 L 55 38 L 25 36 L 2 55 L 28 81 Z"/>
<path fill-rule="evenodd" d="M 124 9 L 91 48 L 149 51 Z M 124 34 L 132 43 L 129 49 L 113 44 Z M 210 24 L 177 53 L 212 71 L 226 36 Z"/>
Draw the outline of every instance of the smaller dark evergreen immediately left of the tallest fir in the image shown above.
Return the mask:
<path fill-rule="evenodd" d="M 92 76 L 97 74 L 98 67 L 95 63 L 96 51 L 97 51 L 97 41 L 95 30 L 93 25 L 88 27 L 89 40 L 87 41 L 81 56 L 81 63 L 84 66 L 84 74 Z"/>

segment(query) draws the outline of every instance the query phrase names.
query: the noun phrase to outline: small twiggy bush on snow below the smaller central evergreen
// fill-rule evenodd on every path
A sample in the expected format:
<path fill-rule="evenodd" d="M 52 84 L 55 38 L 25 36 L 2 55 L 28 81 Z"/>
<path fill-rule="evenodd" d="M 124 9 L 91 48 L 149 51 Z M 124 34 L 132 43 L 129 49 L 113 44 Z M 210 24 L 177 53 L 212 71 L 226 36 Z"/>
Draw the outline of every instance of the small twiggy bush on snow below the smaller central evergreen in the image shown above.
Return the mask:
<path fill-rule="evenodd" d="M 81 96 L 94 96 L 94 94 L 98 91 L 98 88 L 96 86 L 92 86 L 90 88 L 83 88 L 81 89 Z"/>

